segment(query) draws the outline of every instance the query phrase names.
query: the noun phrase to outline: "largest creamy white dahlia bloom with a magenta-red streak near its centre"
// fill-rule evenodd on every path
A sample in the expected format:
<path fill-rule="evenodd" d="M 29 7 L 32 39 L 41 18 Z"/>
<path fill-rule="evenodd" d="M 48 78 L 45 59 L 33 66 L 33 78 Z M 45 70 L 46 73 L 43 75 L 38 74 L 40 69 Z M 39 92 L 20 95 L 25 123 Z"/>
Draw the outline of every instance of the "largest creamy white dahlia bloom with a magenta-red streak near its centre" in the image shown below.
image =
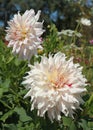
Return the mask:
<path fill-rule="evenodd" d="M 29 90 L 25 97 L 31 97 L 31 110 L 36 108 L 41 117 L 47 112 L 51 121 L 60 120 L 62 113 L 73 118 L 86 92 L 82 67 L 74 64 L 73 58 L 66 60 L 61 52 L 49 58 L 42 56 L 40 63 L 29 66 L 22 84 Z"/>

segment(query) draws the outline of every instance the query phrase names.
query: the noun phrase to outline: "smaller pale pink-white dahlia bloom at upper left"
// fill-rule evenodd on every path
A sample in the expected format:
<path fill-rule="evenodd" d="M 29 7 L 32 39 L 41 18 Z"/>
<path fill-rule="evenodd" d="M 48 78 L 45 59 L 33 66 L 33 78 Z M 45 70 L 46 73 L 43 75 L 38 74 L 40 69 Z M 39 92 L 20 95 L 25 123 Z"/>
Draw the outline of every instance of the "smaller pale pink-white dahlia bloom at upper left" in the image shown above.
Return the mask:
<path fill-rule="evenodd" d="M 8 22 L 6 28 L 6 40 L 8 47 L 12 47 L 14 54 L 19 54 L 19 58 L 30 60 L 37 53 L 37 49 L 43 49 L 41 35 L 44 30 L 43 22 L 38 22 L 41 11 L 35 15 L 33 9 L 25 11 L 23 15 L 19 12 Z"/>

